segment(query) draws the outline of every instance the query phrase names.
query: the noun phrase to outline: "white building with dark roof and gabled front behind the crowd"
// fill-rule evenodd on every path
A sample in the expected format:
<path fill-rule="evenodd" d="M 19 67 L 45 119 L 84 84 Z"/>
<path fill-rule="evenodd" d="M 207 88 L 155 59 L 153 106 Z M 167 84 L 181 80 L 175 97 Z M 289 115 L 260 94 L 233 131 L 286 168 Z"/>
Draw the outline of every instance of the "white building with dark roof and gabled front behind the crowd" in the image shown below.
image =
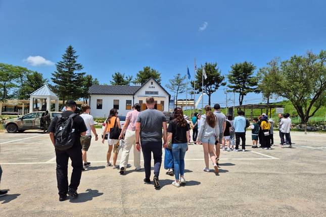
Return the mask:
<path fill-rule="evenodd" d="M 150 78 L 143 85 L 93 85 L 89 88 L 89 106 L 94 117 L 107 117 L 112 108 L 119 111 L 119 116 L 126 116 L 134 103 L 146 110 L 146 97 L 153 96 L 155 108 L 162 112 L 169 111 L 170 94 Z"/>

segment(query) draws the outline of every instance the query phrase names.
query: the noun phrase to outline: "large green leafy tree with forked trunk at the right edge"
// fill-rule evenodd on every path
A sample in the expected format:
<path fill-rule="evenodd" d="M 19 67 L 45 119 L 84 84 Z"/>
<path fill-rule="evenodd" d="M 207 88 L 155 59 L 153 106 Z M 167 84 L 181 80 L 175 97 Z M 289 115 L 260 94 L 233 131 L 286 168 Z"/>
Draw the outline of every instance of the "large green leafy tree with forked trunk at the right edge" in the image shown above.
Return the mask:
<path fill-rule="evenodd" d="M 306 124 L 326 104 L 326 50 L 283 61 L 274 87 L 277 95 L 292 102 L 301 123 Z"/>

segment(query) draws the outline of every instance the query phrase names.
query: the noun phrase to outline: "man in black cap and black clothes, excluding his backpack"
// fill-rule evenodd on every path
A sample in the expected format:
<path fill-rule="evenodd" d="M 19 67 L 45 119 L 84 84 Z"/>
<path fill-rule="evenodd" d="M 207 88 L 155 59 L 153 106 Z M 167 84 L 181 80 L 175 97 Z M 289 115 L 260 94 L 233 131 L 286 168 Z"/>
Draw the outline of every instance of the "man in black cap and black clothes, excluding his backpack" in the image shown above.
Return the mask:
<path fill-rule="evenodd" d="M 77 104 L 73 100 L 68 100 L 66 103 L 66 111 L 61 115 L 62 117 L 69 117 L 76 110 Z M 50 132 L 50 138 L 52 144 L 55 146 L 55 132 L 56 124 L 59 118 L 55 117 L 51 122 L 48 131 Z M 73 141 L 73 146 L 67 150 L 58 150 L 56 151 L 57 157 L 57 182 L 59 190 L 59 201 L 64 201 L 67 198 L 67 194 L 72 197 L 77 197 L 77 188 L 80 183 L 82 166 L 82 157 L 81 157 L 81 144 L 80 136 L 86 134 L 87 128 L 85 126 L 84 120 L 80 116 L 75 116 L 73 118 L 73 125 L 71 131 L 71 137 Z M 68 160 L 71 159 L 71 166 L 73 167 L 71 180 L 68 190 Z"/>

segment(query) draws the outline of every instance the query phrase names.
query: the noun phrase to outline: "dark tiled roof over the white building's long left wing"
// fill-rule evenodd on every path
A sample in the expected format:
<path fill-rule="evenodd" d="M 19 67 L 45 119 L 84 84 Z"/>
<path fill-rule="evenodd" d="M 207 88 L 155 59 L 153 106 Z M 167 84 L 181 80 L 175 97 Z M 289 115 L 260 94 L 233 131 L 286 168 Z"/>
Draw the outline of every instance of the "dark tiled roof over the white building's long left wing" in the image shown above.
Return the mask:
<path fill-rule="evenodd" d="M 93 85 L 89 88 L 89 94 L 108 94 L 108 95 L 133 95 L 141 89 L 141 86 L 127 85 Z"/>

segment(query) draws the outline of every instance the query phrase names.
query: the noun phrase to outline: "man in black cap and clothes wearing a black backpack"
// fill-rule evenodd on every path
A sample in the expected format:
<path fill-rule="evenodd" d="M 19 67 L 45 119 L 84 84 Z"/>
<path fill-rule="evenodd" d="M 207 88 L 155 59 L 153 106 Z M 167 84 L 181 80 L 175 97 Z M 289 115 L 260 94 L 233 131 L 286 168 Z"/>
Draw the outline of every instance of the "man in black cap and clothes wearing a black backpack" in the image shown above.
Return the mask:
<path fill-rule="evenodd" d="M 83 169 L 80 136 L 86 134 L 87 128 L 84 120 L 74 113 L 76 107 L 75 101 L 68 100 L 66 102 L 66 111 L 55 117 L 48 129 L 57 157 L 59 201 L 64 201 L 67 194 L 72 197 L 78 196 L 77 188 Z M 69 157 L 73 170 L 68 190 Z"/>

